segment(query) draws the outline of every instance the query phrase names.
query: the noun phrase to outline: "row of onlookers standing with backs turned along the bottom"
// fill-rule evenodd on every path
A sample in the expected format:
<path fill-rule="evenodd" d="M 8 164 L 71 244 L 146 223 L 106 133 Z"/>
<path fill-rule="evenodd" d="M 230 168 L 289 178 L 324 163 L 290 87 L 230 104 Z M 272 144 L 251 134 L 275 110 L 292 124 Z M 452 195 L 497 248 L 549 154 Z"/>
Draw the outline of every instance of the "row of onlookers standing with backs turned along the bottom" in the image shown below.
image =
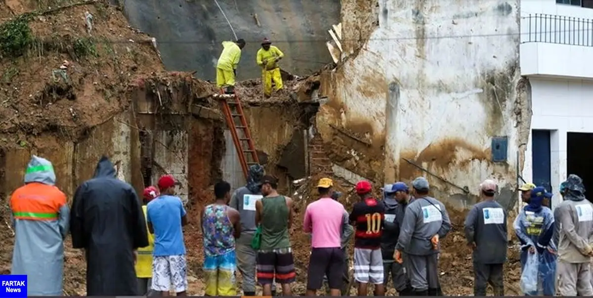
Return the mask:
<path fill-rule="evenodd" d="M 103 157 L 94 177 L 76 188 L 69 209 L 66 196 L 55 187 L 51 162 L 33 156 L 25 184 L 10 199 L 15 245 L 11 274 L 28 276 L 28 295 L 62 294 L 66 235 L 84 251 L 87 295 L 185 296 L 186 248 L 183 229 L 186 210 L 175 196 L 177 181 L 163 175 L 147 187 L 142 202 L 135 190 L 116 178 L 116 169 Z M 307 295 L 324 284 L 331 296 L 349 294 L 347 245 L 354 236 L 353 280 L 358 295 L 374 284 L 384 296 L 389 281 L 400 296 L 441 296 L 440 239 L 451 230 L 445 205 L 429 196 L 429 183 L 419 177 L 384 185 L 383 196 L 359 181 L 359 200 L 349 212 L 337 200 L 330 178 L 317 183 L 318 200 L 308 204 L 302 230 L 311 235 Z M 289 230 L 292 198 L 278 193 L 278 180 L 253 165 L 247 184 L 231 193 L 225 181 L 214 185 L 215 200 L 200 209 L 205 258 L 205 294 L 236 296 L 235 271 L 243 277 L 244 296 L 291 296 L 295 265 Z M 503 296 L 507 214 L 496 202 L 498 185 L 480 184 L 480 201 L 467 213 L 464 230 L 472 249 L 474 294 L 485 296 L 491 284 Z M 590 273 L 593 256 L 593 204 L 586 200 L 581 178 L 569 175 L 560 185 L 562 203 L 549 208 L 551 193 L 544 187 L 519 187 L 525 206 L 514 221 L 521 242 L 521 290 L 534 296 L 593 296 Z"/>

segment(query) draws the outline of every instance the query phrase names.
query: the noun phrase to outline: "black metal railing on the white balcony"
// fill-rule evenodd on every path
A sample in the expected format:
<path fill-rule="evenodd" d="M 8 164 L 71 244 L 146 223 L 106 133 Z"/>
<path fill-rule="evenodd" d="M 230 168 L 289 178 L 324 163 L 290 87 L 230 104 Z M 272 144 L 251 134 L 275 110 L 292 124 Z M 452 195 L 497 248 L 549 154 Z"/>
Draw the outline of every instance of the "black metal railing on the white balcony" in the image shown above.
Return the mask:
<path fill-rule="evenodd" d="M 593 20 L 563 15 L 522 17 L 522 43 L 559 43 L 593 47 Z"/>

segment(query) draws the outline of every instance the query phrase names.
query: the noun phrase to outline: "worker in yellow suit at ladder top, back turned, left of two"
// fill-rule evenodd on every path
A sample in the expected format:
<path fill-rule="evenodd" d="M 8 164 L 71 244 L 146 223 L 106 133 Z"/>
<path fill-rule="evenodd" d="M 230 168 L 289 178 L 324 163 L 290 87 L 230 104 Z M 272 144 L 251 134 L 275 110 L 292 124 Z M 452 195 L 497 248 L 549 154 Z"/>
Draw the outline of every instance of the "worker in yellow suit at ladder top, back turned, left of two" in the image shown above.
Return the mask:
<path fill-rule="evenodd" d="M 225 93 L 235 92 L 235 76 L 237 65 L 241 60 L 241 49 L 245 47 L 245 40 L 222 41 L 222 53 L 216 64 L 216 86 L 226 87 Z"/>

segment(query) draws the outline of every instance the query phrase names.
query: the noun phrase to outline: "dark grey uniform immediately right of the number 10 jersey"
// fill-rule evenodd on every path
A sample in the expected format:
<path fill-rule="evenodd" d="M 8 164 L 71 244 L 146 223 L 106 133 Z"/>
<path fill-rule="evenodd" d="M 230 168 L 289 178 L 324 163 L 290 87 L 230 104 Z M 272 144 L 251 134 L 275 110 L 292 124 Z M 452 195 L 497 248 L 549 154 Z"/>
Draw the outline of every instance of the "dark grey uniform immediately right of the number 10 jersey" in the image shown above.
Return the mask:
<path fill-rule="evenodd" d="M 393 199 L 392 199 L 393 200 Z M 397 238 L 400 235 L 400 226 L 404 219 L 407 203 L 390 204 L 390 200 L 383 200 L 385 204 L 385 222 L 383 235 L 381 237 L 381 254 L 383 255 L 383 284 L 387 287 L 389 277 L 393 287 L 400 295 L 405 293 L 408 286 L 406 270 L 403 264 L 394 261 L 393 253 L 397 245 Z"/>

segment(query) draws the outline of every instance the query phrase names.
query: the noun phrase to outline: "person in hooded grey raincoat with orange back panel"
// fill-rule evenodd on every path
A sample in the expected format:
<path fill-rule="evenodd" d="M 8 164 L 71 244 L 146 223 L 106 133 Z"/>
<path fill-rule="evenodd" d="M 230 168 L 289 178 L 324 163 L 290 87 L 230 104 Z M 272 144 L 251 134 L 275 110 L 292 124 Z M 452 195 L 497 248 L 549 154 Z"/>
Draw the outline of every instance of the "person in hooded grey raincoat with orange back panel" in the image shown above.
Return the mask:
<path fill-rule="evenodd" d="M 62 296 L 69 210 L 55 184 L 52 163 L 33 155 L 25 185 L 10 198 L 15 230 L 11 274 L 27 275 L 28 296 Z"/>

